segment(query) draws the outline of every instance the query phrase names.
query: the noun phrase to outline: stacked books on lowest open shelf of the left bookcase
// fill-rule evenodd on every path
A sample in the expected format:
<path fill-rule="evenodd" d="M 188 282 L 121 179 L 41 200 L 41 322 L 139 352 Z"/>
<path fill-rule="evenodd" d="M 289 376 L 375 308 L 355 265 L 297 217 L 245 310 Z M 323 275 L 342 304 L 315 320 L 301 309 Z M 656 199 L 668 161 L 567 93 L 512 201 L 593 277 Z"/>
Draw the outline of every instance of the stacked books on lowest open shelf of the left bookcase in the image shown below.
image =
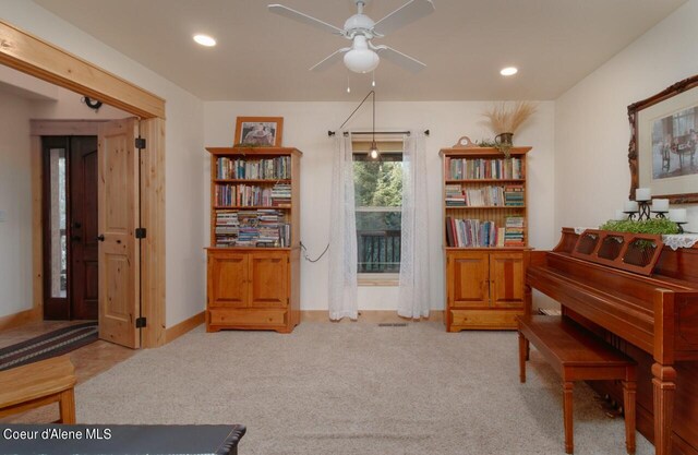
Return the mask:
<path fill-rule="evenodd" d="M 281 247 L 291 244 L 291 226 L 273 208 L 216 212 L 216 247 Z"/>

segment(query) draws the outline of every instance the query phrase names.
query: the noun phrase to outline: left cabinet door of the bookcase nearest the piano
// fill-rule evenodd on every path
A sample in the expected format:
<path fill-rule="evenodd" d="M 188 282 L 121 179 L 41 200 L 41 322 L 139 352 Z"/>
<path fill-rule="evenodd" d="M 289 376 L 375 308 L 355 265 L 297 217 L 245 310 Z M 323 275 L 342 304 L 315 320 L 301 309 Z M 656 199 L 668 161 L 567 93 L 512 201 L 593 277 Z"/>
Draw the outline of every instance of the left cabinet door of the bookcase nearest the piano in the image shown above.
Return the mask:
<path fill-rule="evenodd" d="M 454 308 L 489 307 L 489 254 L 482 251 L 447 253 L 446 286 Z"/>

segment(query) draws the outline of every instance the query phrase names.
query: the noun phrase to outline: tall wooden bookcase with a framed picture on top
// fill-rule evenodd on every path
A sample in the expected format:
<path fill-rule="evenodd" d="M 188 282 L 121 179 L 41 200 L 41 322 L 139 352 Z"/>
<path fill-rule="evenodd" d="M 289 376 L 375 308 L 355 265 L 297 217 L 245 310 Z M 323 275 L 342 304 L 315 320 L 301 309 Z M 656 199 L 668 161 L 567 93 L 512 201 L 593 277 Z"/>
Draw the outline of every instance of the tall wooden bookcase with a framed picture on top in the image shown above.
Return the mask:
<path fill-rule="evenodd" d="M 288 147 L 212 147 L 206 331 L 300 323 L 300 172 Z"/>

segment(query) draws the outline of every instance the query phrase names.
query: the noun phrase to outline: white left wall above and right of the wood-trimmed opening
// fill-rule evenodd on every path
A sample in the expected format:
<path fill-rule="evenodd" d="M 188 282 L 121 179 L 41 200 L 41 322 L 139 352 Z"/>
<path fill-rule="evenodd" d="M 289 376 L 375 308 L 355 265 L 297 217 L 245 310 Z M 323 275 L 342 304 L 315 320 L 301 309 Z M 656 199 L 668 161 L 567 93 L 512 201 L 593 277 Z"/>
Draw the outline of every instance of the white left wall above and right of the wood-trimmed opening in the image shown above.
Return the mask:
<path fill-rule="evenodd" d="M 205 306 L 205 216 L 201 172 L 202 101 L 142 64 L 26 0 L 0 0 L 0 19 L 110 71 L 167 100 L 166 131 L 166 325 Z"/>

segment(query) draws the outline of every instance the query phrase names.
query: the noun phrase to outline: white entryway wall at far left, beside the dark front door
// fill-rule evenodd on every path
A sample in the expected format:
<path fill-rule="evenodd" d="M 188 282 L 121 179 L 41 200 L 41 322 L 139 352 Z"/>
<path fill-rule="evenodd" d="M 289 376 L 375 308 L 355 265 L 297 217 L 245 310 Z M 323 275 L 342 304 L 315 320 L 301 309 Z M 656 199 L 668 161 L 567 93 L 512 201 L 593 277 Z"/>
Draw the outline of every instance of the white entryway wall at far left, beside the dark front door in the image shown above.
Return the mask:
<path fill-rule="evenodd" d="M 31 103 L 0 91 L 0 318 L 32 309 Z"/>

